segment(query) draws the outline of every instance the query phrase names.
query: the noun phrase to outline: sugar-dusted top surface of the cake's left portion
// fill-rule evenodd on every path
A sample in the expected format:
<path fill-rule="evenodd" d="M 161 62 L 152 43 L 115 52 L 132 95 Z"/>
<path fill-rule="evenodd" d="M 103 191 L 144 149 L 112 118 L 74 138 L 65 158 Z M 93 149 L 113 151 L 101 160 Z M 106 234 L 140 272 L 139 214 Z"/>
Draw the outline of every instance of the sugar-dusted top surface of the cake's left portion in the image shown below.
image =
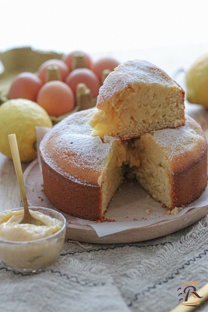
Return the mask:
<path fill-rule="evenodd" d="M 70 164 L 71 167 L 77 169 L 102 171 L 106 155 L 116 139 L 106 136 L 101 140 L 98 136 L 90 135 L 90 126 L 87 122 L 95 110 L 96 108 L 93 108 L 70 115 L 45 135 L 40 149 L 53 168 L 65 172 L 65 166 Z M 70 174 L 70 168 L 68 174 Z"/>

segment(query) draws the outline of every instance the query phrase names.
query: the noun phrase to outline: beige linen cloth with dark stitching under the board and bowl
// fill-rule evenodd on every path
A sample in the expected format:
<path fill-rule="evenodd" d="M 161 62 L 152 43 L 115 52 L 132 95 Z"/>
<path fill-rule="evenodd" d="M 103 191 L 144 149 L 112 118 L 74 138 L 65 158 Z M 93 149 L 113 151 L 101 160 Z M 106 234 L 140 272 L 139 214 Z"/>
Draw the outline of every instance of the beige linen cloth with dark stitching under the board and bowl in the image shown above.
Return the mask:
<path fill-rule="evenodd" d="M 89 244 L 65 240 L 59 260 L 22 275 L 0 263 L 1 312 L 160 311 L 179 304 L 179 285 L 208 278 L 208 216 L 150 241 Z M 200 306 L 207 311 L 208 304 Z M 198 309 L 199 310 L 199 309 Z"/>

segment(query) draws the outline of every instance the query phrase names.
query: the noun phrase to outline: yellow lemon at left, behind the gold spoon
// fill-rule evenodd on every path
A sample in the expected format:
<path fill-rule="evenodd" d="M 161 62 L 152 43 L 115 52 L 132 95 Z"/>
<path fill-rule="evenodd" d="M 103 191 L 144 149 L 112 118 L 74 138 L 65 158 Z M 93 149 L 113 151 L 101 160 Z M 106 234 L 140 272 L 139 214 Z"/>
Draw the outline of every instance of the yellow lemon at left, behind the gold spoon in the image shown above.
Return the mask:
<path fill-rule="evenodd" d="M 0 152 L 12 158 L 7 135 L 15 133 L 20 160 L 35 159 L 35 126 L 52 127 L 51 118 L 40 105 L 26 99 L 4 102 L 0 105 Z"/>

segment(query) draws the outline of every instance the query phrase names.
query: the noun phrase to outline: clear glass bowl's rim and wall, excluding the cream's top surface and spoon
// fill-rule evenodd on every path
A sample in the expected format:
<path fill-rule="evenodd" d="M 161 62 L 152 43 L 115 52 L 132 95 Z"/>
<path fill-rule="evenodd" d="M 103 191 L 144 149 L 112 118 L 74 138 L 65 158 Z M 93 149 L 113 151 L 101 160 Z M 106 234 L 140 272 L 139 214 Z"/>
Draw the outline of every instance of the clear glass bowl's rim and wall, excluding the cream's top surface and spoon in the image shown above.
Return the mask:
<path fill-rule="evenodd" d="M 23 209 L 23 207 L 14 208 L 11 211 Z M 66 220 L 60 212 L 52 209 L 43 207 L 29 209 L 62 221 L 62 228 L 53 235 L 32 241 L 8 241 L 0 238 L 0 259 L 8 269 L 22 273 L 37 273 L 50 266 L 60 256 L 65 239 Z"/>

